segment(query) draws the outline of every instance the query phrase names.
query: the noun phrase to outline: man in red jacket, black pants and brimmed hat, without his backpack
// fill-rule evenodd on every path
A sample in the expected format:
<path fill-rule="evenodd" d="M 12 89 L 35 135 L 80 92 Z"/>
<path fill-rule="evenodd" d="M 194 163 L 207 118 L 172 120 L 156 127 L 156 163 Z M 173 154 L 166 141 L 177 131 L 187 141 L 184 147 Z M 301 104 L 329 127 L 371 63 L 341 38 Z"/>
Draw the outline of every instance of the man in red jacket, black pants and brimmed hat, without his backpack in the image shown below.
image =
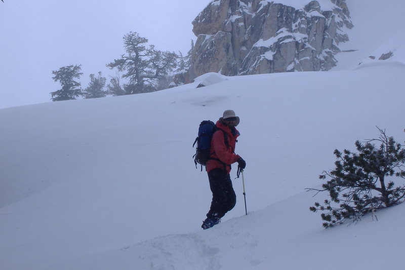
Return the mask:
<path fill-rule="evenodd" d="M 203 229 L 211 228 L 221 222 L 226 212 L 236 204 L 236 195 L 230 178 L 231 164 L 237 162 L 239 169 L 246 167 L 246 162 L 235 154 L 236 138 L 240 135 L 236 130 L 239 117 L 233 110 L 225 110 L 217 121 L 218 130 L 211 140 L 211 156 L 206 170 L 210 180 L 212 202 L 207 219 L 203 221 Z"/>

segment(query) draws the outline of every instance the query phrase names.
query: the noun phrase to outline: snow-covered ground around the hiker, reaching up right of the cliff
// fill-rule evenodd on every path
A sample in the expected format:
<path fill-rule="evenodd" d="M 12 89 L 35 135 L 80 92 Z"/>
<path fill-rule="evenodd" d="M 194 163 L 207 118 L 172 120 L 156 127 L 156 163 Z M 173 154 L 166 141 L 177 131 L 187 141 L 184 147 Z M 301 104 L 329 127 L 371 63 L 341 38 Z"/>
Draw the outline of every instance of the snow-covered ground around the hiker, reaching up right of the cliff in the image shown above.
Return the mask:
<path fill-rule="evenodd" d="M 351 31 L 369 39 L 355 16 L 388 17 L 404 5 L 347 2 L 363 27 Z M 392 31 L 376 43 L 353 38 L 345 46 L 358 51 L 342 53 L 329 72 L 196 88 L 203 78 L 149 94 L 0 109 L 0 269 L 401 269 L 405 205 L 377 212 L 378 221 L 323 229 L 309 207 L 326 195 L 304 191 L 334 168 L 335 148 L 355 149 L 355 140 L 379 135 L 376 126 L 405 140 L 405 38 L 389 28 L 403 26 L 396 23 L 381 26 Z M 386 50 L 396 53 L 358 66 Z M 211 192 L 191 145 L 199 122 L 225 109 L 241 120 L 248 215 L 235 179 L 235 208 L 202 230 Z"/>

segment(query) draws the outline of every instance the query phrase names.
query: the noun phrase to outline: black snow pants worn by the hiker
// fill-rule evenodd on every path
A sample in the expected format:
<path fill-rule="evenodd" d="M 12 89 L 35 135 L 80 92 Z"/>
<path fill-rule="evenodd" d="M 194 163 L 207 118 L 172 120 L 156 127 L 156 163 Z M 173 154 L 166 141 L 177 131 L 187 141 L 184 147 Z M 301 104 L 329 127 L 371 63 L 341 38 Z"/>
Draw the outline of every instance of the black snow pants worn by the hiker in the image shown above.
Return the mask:
<path fill-rule="evenodd" d="M 232 187 L 230 175 L 223 169 L 213 169 L 208 172 L 212 202 L 208 218 L 221 218 L 236 204 L 236 195 Z"/>

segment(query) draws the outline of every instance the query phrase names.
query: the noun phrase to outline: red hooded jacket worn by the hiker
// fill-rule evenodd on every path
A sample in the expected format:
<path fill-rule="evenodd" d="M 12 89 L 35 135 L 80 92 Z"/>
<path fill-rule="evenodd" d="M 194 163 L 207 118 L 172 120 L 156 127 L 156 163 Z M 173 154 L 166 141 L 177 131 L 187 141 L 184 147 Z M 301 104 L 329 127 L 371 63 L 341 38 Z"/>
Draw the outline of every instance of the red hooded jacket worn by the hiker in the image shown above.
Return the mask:
<path fill-rule="evenodd" d="M 212 136 L 211 156 L 207 161 L 206 170 L 209 172 L 216 168 L 225 169 L 226 167 L 226 172 L 230 173 L 230 164 L 235 163 L 240 158 L 239 155 L 235 154 L 236 138 L 239 136 L 239 132 L 236 128 L 233 128 L 232 132 L 228 126 L 222 123 L 221 119 L 217 121 L 216 126 L 220 130 L 217 130 Z M 226 133 L 228 146 L 225 144 L 224 132 L 221 130 Z"/>

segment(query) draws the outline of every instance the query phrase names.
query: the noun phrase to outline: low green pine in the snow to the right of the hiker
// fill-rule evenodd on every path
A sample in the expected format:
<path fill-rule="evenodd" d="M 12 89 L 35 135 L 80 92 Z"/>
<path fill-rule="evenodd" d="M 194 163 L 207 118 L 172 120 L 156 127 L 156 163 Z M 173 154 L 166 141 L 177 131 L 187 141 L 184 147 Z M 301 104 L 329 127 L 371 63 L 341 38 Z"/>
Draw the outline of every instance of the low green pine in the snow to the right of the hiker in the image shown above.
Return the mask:
<path fill-rule="evenodd" d="M 335 170 L 319 176 L 329 180 L 322 189 L 307 188 L 318 192 L 328 191 L 330 200 L 323 205 L 315 203 L 310 210 L 321 210 L 324 227 L 331 227 L 347 219 L 358 221 L 366 213 L 397 205 L 404 201 L 405 185 L 396 186 L 394 177 L 405 178 L 403 164 L 405 149 L 392 137 L 380 131 L 378 139 L 365 143 L 355 142 L 358 152 L 335 150 Z M 373 142 L 380 143 L 376 148 Z M 389 178 L 389 179 L 387 179 Z"/>

